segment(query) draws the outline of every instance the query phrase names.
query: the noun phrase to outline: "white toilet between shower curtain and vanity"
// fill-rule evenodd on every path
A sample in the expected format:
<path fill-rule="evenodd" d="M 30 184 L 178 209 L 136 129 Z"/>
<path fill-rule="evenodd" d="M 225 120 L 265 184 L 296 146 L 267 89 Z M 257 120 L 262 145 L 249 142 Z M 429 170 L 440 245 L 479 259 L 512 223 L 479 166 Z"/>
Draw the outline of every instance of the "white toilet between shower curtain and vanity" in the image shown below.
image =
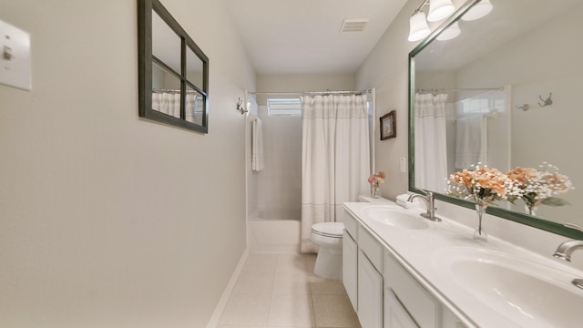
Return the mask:
<path fill-rule="evenodd" d="M 312 225 L 310 239 L 320 245 L 313 273 L 319 277 L 343 279 L 343 222 Z"/>

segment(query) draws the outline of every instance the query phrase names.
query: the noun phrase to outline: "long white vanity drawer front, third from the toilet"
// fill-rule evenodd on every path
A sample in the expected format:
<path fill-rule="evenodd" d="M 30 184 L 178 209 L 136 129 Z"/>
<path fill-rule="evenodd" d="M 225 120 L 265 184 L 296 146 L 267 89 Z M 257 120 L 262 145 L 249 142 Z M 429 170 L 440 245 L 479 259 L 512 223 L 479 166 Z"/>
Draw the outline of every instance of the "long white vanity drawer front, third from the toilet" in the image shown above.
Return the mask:
<path fill-rule="evenodd" d="M 405 272 L 391 254 L 384 256 L 384 281 L 421 328 L 439 326 L 438 323 L 441 321 L 439 302 Z"/>

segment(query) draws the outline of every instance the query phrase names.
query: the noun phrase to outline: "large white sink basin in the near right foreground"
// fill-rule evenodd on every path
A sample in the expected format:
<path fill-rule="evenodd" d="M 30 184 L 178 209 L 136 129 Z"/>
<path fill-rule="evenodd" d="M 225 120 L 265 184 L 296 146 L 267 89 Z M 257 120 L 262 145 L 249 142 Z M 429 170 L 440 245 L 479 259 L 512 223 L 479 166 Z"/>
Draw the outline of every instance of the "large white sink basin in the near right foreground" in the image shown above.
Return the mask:
<path fill-rule="evenodd" d="M 496 251 L 450 248 L 435 251 L 433 264 L 444 279 L 518 326 L 583 324 L 583 290 L 571 284 L 581 277 L 552 260 L 543 263 Z"/>

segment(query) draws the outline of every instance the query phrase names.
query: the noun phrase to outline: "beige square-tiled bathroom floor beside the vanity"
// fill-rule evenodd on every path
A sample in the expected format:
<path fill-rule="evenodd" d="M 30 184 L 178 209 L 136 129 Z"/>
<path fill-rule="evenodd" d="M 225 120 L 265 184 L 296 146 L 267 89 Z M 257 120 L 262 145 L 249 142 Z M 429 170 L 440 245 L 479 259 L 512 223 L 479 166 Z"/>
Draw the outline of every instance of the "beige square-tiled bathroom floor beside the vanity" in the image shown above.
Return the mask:
<path fill-rule="evenodd" d="M 315 261 L 251 253 L 217 328 L 360 328 L 343 283 L 314 276 Z"/>

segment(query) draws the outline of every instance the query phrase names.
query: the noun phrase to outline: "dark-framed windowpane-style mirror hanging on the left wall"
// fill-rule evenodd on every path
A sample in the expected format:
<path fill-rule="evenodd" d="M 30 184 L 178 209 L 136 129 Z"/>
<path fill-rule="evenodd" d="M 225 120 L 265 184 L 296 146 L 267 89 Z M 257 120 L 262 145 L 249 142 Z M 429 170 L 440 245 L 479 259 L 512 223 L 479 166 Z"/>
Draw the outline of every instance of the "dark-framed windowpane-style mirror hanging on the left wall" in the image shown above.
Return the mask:
<path fill-rule="evenodd" d="M 209 58 L 159 0 L 138 0 L 139 116 L 209 131 Z"/>

